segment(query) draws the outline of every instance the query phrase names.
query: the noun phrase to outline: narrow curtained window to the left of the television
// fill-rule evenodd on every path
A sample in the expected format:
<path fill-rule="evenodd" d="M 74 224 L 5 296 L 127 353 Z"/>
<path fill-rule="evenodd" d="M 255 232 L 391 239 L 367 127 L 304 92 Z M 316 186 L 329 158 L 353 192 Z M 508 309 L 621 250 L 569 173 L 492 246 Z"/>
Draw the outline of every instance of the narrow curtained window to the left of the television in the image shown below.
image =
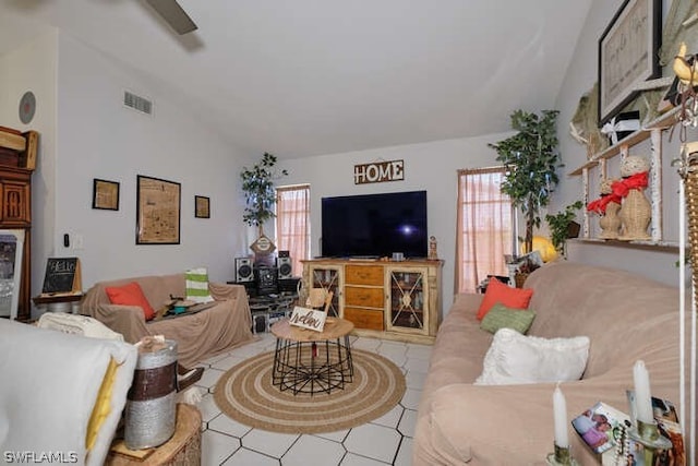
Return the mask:
<path fill-rule="evenodd" d="M 289 251 L 293 275 L 300 276 L 300 261 L 310 259 L 310 184 L 276 189 L 276 247 Z"/>

